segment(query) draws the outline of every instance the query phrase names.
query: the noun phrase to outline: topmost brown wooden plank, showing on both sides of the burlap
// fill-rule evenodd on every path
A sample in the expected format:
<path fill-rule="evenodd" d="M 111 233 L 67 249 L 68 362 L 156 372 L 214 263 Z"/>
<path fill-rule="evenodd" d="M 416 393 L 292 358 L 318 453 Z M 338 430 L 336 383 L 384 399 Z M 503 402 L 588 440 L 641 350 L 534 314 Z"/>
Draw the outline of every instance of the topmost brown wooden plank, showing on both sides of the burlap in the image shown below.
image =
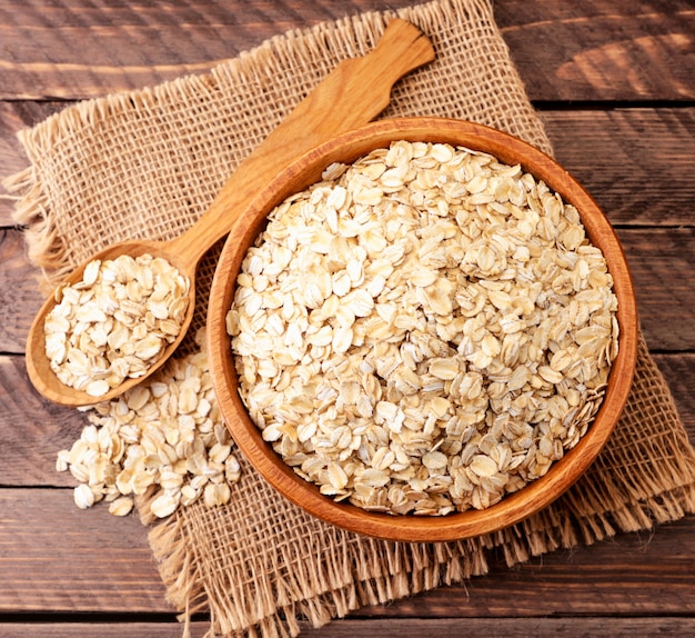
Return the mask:
<path fill-rule="evenodd" d="M 104 0 L 14 0 L 0 8 L 0 99 L 81 99 L 152 86 L 203 72 L 289 29 L 411 3 L 233 0 L 201 10 L 187 1 L 164 10 Z M 688 0 L 498 0 L 494 7 L 534 100 L 695 97 Z"/>

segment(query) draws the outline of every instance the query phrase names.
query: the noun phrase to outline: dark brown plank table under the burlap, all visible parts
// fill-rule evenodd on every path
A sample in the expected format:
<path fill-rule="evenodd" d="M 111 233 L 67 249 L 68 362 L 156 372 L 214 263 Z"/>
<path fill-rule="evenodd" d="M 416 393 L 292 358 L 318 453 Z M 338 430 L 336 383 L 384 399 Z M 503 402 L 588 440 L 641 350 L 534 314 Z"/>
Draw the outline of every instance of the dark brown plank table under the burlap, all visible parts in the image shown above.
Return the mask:
<path fill-rule="evenodd" d="M 407 0 L 2 0 L 0 176 L 16 132 L 67 103 L 137 89 L 290 28 Z M 498 0 L 498 26 L 557 158 L 617 227 L 647 342 L 695 440 L 695 4 Z M 0 636 L 180 636 L 134 517 L 72 502 L 56 452 L 82 419 L 24 371 L 39 307 L 12 203 L 0 199 Z M 194 624 L 202 635 L 205 619 Z M 362 609 L 306 636 L 695 635 L 695 516 L 465 587 Z"/>

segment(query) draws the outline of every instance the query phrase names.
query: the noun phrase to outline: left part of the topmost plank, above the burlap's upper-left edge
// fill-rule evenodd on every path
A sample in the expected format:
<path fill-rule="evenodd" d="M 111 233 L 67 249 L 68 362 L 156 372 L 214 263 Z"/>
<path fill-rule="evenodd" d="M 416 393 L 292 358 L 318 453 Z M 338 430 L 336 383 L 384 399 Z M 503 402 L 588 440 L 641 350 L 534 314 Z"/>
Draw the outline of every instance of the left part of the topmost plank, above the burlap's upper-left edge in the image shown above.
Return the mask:
<path fill-rule="evenodd" d="M 0 10 L 0 40 L 11 51 L 0 67 L 0 98 L 82 99 L 158 84 L 205 72 L 290 29 L 407 3 L 232 0 L 204 10 L 194 2 L 175 2 L 164 10 L 103 0 L 52 7 L 17 1 Z"/>

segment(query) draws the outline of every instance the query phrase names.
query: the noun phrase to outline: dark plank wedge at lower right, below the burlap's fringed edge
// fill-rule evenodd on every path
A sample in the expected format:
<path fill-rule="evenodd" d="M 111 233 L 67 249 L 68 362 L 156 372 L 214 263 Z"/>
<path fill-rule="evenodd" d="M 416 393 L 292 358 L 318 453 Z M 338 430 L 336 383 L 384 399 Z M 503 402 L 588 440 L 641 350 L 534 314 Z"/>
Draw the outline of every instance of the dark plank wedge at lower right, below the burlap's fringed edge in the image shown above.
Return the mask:
<path fill-rule="evenodd" d="M 694 531 L 695 516 L 689 516 L 652 535 L 621 535 L 511 570 L 497 564 L 488 576 L 473 578 L 465 587 L 440 588 L 360 614 L 389 618 L 692 616 Z"/>

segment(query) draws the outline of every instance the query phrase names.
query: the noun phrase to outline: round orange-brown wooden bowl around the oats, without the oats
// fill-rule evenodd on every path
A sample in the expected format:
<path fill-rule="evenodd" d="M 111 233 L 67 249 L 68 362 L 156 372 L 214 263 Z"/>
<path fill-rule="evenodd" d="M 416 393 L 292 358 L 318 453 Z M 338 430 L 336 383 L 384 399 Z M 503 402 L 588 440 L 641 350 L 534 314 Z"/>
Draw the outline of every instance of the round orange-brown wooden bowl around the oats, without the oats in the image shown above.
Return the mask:
<path fill-rule="evenodd" d="M 594 422 L 545 476 L 483 510 L 431 517 L 394 516 L 335 502 L 299 477 L 262 439 L 238 392 L 225 315 L 232 303 L 241 261 L 263 229 L 266 215 L 288 196 L 319 181 L 331 162 L 352 162 L 395 140 L 449 142 L 486 151 L 507 165 L 521 163 L 577 208 L 588 238 L 603 251 L 614 279 L 620 353 Z M 401 541 L 446 541 L 492 532 L 523 520 L 557 499 L 588 468 L 613 431 L 629 392 L 636 360 L 637 315 L 625 256 L 613 228 L 587 192 L 553 159 L 512 136 L 484 126 L 440 118 L 405 118 L 374 122 L 316 147 L 259 192 L 222 250 L 210 295 L 208 339 L 213 383 L 226 425 L 252 466 L 278 491 L 311 515 L 359 534 Z"/>

